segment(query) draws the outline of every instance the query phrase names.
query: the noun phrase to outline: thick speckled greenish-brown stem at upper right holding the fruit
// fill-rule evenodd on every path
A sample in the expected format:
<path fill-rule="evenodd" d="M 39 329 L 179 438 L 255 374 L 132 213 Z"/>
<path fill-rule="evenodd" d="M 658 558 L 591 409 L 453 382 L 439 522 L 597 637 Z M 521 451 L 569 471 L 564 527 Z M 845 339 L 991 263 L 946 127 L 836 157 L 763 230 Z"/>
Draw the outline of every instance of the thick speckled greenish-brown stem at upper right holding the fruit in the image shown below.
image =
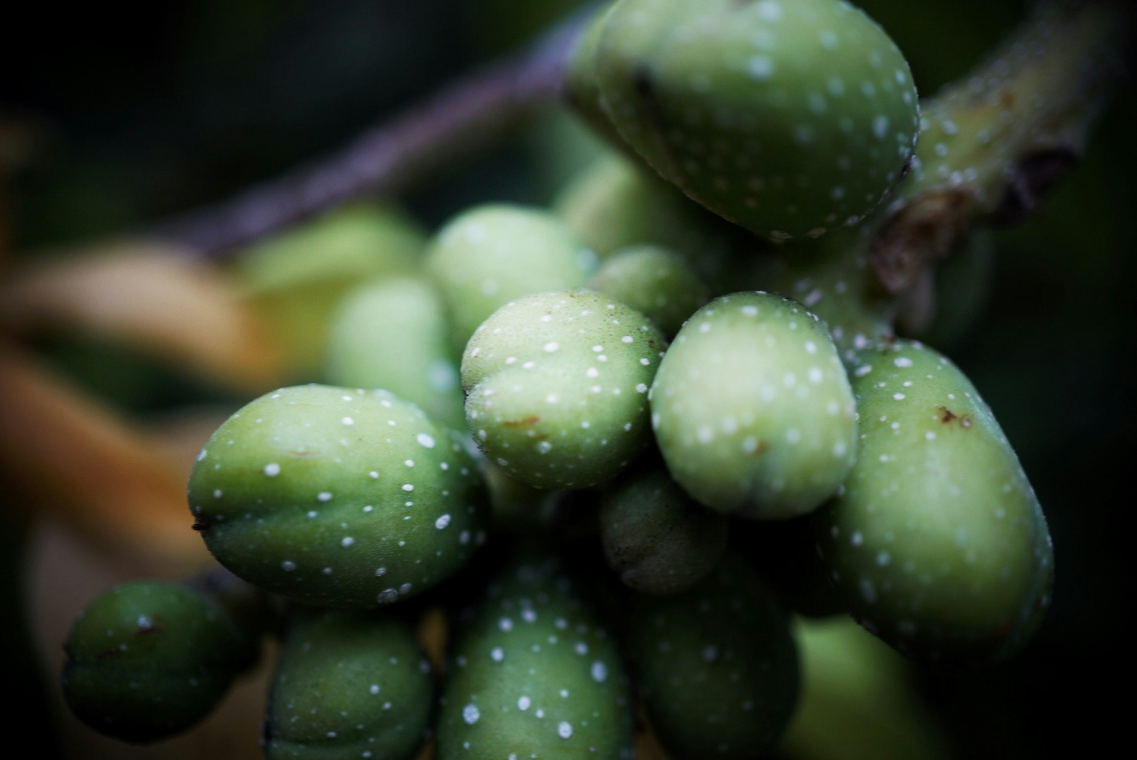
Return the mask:
<path fill-rule="evenodd" d="M 970 75 L 922 104 L 912 171 L 872 247 L 890 294 L 915 284 L 974 222 L 1018 224 L 1081 156 L 1128 63 L 1124 0 L 1048 0 Z"/>

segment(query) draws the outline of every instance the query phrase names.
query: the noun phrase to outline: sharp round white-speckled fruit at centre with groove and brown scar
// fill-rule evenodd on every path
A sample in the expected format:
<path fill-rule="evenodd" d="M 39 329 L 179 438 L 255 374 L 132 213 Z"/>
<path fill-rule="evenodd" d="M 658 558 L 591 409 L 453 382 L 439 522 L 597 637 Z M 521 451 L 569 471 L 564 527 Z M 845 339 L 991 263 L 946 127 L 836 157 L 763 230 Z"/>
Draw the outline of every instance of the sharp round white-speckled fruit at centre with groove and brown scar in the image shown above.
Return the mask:
<path fill-rule="evenodd" d="M 523 482 L 603 482 L 650 440 L 647 391 L 664 346 L 646 316 L 598 292 L 520 298 L 466 346 L 466 421 L 487 456 Z"/>

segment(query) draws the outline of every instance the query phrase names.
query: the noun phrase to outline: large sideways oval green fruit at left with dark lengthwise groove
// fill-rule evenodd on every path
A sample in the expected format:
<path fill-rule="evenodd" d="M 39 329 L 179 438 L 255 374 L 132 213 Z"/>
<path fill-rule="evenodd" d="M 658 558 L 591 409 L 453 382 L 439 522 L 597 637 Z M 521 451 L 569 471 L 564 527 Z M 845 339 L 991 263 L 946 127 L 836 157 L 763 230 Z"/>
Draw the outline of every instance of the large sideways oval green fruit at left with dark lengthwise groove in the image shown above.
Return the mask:
<path fill-rule="evenodd" d="M 231 416 L 189 496 L 222 564 L 323 606 L 434 585 L 470 559 L 485 520 L 481 478 L 446 429 L 385 390 L 332 386 L 282 388 Z"/>

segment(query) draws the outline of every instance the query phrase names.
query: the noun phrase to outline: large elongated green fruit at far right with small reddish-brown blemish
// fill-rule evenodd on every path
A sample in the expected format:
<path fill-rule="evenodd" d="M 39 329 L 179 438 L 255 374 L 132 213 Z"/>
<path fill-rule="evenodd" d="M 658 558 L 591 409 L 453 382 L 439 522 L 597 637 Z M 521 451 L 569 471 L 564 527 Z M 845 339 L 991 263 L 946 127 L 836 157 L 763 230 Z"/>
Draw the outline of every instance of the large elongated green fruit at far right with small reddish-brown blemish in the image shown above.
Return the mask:
<path fill-rule="evenodd" d="M 854 618 L 947 669 L 1005 659 L 1049 603 L 1053 550 L 1014 451 L 971 382 L 916 342 L 862 355 L 861 452 L 815 515 Z"/>

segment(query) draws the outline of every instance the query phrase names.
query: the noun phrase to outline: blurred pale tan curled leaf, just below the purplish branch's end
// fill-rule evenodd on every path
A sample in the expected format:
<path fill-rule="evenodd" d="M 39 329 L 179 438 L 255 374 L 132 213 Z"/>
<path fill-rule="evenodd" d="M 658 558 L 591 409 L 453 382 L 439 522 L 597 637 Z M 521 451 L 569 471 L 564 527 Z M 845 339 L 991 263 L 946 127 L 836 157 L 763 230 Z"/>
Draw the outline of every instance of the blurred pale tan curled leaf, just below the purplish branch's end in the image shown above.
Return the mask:
<path fill-rule="evenodd" d="M 126 241 L 13 273 L 0 325 L 73 329 L 138 346 L 244 390 L 280 377 L 280 350 L 235 286 L 166 243 Z"/>

